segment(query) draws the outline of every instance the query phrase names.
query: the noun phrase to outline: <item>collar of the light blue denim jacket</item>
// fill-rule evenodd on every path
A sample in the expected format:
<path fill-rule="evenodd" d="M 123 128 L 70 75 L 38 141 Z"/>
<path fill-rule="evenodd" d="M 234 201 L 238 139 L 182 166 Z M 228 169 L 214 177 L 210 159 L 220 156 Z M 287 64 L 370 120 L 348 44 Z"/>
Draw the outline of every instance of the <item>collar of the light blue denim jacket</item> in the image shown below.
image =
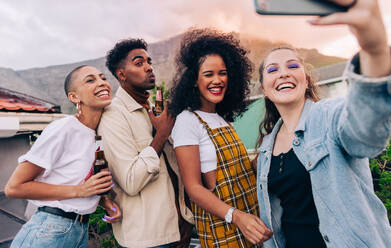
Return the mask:
<path fill-rule="evenodd" d="M 303 111 L 300 116 L 299 124 L 295 128 L 296 135 L 305 131 L 305 121 L 313 105 L 314 102 L 312 100 L 307 99 L 305 101 Z M 271 152 L 273 150 L 274 141 L 277 136 L 278 130 L 280 130 L 281 125 L 282 125 L 282 119 L 280 118 L 274 125 L 272 132 L 264 137 L 262 141 L 262 145 L 259 147 L 260 152 Z"/>

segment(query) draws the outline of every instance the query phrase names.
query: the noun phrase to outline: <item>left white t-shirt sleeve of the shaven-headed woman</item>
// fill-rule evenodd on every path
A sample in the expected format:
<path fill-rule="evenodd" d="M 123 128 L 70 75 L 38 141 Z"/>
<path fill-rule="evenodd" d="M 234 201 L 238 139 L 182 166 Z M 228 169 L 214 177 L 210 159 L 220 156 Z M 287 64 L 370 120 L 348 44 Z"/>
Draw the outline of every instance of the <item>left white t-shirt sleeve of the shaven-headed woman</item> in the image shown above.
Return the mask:
<path fill-rule="evenodd" d="M 30 151 L 19 157 L 18 162 L 29 161 L 44 168 L 45 171 L 42 177 L 46 177 L 64 152 L 63 142 L 65 137 L 66 131 L 63 130 L 62 125 L 59 125 L 58 122 L 51 123 L 43 130 Z"/>

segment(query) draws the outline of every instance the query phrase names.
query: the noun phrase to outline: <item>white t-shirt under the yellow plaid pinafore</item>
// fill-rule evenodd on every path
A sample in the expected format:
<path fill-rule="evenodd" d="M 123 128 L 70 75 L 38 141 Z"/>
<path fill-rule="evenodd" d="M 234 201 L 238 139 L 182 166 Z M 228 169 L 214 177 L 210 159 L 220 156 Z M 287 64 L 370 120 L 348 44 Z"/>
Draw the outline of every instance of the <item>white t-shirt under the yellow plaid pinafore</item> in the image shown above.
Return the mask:
<path fill-rule="evenodd" d="M 195 111 L 211 129 L 228 126 L 228 123 L 216 113 Z M 201 172 L 206 173 L 217 168 L 216 148 L 207 130 L 197 116 L 184 110 L 176 117 L 171 137 L 174 148 L 178 146 L 198 145 L 200 150 Z"/>

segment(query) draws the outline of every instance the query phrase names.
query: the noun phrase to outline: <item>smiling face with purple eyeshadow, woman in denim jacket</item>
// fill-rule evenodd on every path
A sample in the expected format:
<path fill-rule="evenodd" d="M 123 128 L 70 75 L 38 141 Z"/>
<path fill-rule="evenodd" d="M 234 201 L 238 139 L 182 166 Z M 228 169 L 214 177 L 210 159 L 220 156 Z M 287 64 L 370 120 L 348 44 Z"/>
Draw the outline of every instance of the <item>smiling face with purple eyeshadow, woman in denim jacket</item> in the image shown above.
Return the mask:
<path fill-rule="evenodd" d="M 262 90 L 274 104 L 305 101 L 308 87 L 304 64 L 290 49 L 274 50 L 266 57 Z"/>

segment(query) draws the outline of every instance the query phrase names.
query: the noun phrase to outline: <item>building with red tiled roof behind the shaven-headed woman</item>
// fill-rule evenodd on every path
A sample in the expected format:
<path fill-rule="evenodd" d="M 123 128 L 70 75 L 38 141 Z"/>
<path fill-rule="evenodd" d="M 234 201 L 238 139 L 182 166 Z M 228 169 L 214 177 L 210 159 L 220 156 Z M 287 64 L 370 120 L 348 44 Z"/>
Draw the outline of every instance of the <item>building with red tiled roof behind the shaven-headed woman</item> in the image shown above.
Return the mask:
<path fill-rule="evenodd" d="M 35 135 L 64 116 L 56 104 L 0 87 L 0 248 L 9 246 L 26 220 L 26 200 L 4 195 L 17 159 L 30 149 Z"/>

